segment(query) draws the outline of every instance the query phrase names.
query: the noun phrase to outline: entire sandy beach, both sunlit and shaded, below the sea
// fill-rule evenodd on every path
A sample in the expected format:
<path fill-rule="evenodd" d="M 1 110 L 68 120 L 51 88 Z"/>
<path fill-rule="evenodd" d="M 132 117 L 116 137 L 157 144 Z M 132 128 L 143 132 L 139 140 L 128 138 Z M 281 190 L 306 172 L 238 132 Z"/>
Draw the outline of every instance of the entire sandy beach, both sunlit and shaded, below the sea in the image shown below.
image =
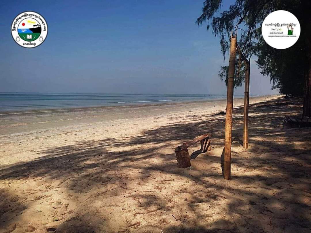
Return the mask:
<path fill-rule="evenodd" d="M 1 112 L 0 232 L 311 232 L 311 131 L 282 125 L 302 101 L 251 97 L 248 149 L 243 103 L 232 180 L 225 100 Z M 204 133 L 211 151 L 178 168 L 174 148 Z"/>

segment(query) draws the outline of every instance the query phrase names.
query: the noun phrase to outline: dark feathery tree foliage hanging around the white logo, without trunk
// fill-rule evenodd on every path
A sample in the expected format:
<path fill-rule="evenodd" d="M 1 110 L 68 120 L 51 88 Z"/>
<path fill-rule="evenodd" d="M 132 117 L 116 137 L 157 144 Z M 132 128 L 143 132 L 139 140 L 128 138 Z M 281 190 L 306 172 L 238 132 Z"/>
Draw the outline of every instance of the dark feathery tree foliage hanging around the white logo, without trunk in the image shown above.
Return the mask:
<path fill-rule="evenodd" d="M 230 48 L 231 32 L 234 34 L 238 32 L 239 47 L 248 59 L 253 55 L 258 56 L 258 67 L 262 69 L 262 74 L 270 76 L 273 88 L 279 89 L 284 94 L 299 95 L 300 93 L 301 95 L 303 93 L 304 73 L 295 73 L 295 70 L 305 65 L 301 62 L 300 56 L 303 42 L 299 43 L 295 48 L 284 51 L 274 49 L 263 41 L 260 29 L 265 17 L 273 11 L 286 9 L 294 15 L 301 15 L 301 1 L 236 0 L 234 4 L 230 5 L 229 10 L 222 11 L 220 16 L 216 16 L 222 7 L 222 0 L 206 0 L 203 2 L 202 15 L 197 18 L 196 23 L 202 25 L 207 22 L 207 30 L 211 27 L 215 37 L 220 38 L 220 47 L 224 59 Z M 243 73 L 244 67 L 241 68 Z M 227 70 L 227 66 L 220 68 L 219 76 L 221 80 L 227 77 Z M 299 77 L 296 79 L 297 76 Z M 240 86 L 243 82 L 243 75 L 236 76 L 234 86 Z"/>

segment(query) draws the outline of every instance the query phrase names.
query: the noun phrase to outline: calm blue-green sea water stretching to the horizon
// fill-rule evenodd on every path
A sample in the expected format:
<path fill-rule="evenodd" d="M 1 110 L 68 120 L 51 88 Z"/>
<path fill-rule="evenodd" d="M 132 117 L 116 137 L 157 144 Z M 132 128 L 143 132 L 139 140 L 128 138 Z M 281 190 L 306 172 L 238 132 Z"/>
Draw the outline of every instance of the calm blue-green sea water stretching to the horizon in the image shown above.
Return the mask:
<path fill-rule="evenodd" d="M 225 98 L 226 95 L 210 94 L 0 93 L 0 111 L 180 103 Z"/>

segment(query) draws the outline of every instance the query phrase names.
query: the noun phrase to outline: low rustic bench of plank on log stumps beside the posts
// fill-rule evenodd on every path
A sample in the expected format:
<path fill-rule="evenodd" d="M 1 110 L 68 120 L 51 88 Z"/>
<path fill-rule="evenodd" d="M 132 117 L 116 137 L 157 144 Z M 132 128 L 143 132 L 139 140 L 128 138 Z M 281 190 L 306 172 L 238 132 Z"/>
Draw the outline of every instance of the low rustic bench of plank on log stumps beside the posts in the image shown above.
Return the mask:
<path fill-rule="evenodd" d="M 195 137 L 193 140 L 183 142 L 182 145 L 175 149 L 178 167 L 187 168 L 191 166 L 188 147 L 197 144 L 198 142 L 201 144 L 200 150 L 202 153 L 211 150 L 210 134 L 203 134 Z"/>

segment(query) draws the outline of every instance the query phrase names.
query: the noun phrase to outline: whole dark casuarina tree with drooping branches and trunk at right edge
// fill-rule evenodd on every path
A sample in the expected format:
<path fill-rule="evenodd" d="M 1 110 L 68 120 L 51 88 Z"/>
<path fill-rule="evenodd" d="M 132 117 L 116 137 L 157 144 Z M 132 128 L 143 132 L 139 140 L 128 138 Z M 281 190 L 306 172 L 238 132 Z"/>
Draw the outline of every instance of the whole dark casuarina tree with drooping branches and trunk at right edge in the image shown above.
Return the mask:
<path fill-rule="evenodd" d="M 277 10 L 293 13 L 299 20 L 301 34 L 296 44 L 280 50 L 267 45 L 261 35 L 265 17 Z M 219 12 L 219 13 L 218 13 Z M 257 64 L 262 74 L 270 76 L 274 88 L 281 93 L 304 96 L 303 116 L 311 116 L 311 1 L 308 0 L 235 0 L 229 9 L 222 10 L 222 0 L 203 2 L 202 15 L 197 25 L 207 23 L 220 38 L 221 52 L 227 54 L 230 48 L 230 34 L 239 31 L 239 47 L 249 59 L 258 57 Z M 235 86 L 242 85 L 242 75 L 235 77 Z M 220 78 L 227 77 L 226 66 L 220 69 Z M 292 90 L 291 90 L 292 88 Z"/>

